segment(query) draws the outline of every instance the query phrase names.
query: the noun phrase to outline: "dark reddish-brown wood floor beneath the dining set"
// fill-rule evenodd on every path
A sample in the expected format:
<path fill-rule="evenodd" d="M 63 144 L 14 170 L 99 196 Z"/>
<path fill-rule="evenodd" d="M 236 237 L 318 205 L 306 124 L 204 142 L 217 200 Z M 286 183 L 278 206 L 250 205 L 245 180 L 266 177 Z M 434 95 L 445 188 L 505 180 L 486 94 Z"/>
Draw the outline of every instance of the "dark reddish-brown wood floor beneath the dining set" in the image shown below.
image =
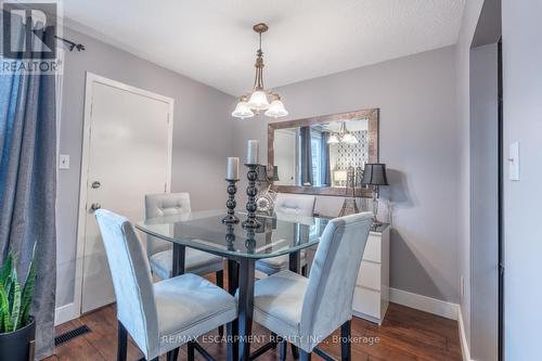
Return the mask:
<path fill-rule="evenodd" d="M 85 314 L 80 319 L 56 326 L 56 334 L 62 334 L 86 324 L 92 332 L 61 345 L 55 356 L 47 361 L 59 360 L 116 360 L 117 321 L 115 307 L 108 306 L 98 311 Z M 264 344 L 269 332 L 255 324 L 254 334 L 261 339 L 255 339 L 251 349 Z M 216 331 L 208 335 L 218 335 Z M 339 360 L 339 344 L 331 336 L 320 348 Z M 408 307 L 390 304 L 382 326 L 354 318 L 352 321 L 352 358 L 354 361 L 403 361 L 403 360 L 462 360 L 457 323 L 430 313 L 417 311 Z M 207 337 L 211 338 L 211 337 Z M 202 346 L 217 360 L 225 360 L 225 345 L 216 344 L 212 339 L 201 339 Z M 196 352 L 197 354 L 197 352 Z M 142 353 L 130 339 L 128 360 L 139 360 Z M 198 357 L 198 356 L 197 356 Z M 166 360 L 165 357 L 160 358 Z M 181 349 L 179 360 L 186 360 L 185 347 Z M 203 360 L 199 358 L 198 360 Z M 258 360 L 279 360 L 278 352 L 268 351 Z M 293 360 L 288 348 L 288 359 Z M 313 360 L 320 360 L 313 356 Z"/>

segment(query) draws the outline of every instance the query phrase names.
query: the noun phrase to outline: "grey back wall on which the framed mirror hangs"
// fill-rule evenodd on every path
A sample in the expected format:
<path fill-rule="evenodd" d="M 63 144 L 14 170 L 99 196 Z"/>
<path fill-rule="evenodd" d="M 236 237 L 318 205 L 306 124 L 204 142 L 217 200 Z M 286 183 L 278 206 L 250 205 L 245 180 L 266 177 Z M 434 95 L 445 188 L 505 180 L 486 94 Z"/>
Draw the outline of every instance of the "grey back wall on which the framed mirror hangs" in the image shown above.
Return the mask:
<path fill-rule="evenodd" d="M 455 49 L 438 49 L 276 89 L 297 119 L 380 108 L 380 160 L 390 169 L 391 286 L 459 301 L 459 128 Z M 235 123 L 235 152 L 248 139 L 267 149 L 267 119 Z M 267 159 L 262 159 L 267 160 Z M 242 185 L 243 186 L 243 185 Z M 242 204 L 242 203 L 241 203 Z M 319 197 L 337 216 L 340 198 Z"/>

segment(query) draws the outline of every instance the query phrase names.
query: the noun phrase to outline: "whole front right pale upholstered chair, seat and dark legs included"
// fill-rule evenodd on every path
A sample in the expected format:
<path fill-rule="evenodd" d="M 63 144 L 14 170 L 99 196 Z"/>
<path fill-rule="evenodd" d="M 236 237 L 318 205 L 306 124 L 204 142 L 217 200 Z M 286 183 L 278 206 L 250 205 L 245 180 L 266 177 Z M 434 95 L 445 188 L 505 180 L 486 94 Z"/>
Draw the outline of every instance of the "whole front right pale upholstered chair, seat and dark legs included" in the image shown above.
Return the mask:
<path fill-rule="evenodd" d="M 297 346 L 301 360 L 322 354 L 317 345 L 338 327 L 343 360 L 351 360 L 353 291 L 372 222 L 371 212 L 330 221 L 308 279 L 285 270 L 256 282 L 254 321 Z"/>

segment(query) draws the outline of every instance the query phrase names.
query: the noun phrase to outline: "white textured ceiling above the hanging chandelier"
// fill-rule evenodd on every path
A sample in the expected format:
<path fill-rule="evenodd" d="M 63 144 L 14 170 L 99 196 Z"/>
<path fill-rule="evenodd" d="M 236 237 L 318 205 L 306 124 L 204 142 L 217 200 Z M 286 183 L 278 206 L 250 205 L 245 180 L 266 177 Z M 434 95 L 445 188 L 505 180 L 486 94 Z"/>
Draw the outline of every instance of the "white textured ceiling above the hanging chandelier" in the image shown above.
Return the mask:
<path fill-rule="evenodd" d="M 465 0 L 64 0 L 65 25 L 232 95 L 455 43 Z M 92 51 L 89 49 L 88 51 Z"/>

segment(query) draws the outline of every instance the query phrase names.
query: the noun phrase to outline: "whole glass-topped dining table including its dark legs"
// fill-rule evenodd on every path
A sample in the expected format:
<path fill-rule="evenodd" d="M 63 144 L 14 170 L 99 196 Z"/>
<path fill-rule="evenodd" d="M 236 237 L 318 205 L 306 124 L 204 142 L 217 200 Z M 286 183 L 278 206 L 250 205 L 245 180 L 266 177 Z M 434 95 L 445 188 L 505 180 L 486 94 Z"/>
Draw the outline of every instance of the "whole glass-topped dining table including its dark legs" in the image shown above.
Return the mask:
<path fill-rule="evenodd" d="M 235 212 L 244 220 L 246 214 Z M 232 347 L 229 360 L 249 360 L 255 262 L 258 259 L 289 256 L 289 270 L 300 272 L 300 250 L 320 242 L 328 222 L 323 217 L 300 217 L 288 214 L 258 216 L 260 225 L 245 229 L 242 223 L 224 224 L 225 210 L 194 211 L 164 216 L 136 224 L 140 231 L 171 242 L 172 274 L 184 273 L 185 248 L 191 247 L 221 256 L 228 260 L 228 291 L 238 292 L 238 319 L 233 323 L 233 336 L 238 347 Z M 253 356 L 254 357 L 254 356 Z"/>

